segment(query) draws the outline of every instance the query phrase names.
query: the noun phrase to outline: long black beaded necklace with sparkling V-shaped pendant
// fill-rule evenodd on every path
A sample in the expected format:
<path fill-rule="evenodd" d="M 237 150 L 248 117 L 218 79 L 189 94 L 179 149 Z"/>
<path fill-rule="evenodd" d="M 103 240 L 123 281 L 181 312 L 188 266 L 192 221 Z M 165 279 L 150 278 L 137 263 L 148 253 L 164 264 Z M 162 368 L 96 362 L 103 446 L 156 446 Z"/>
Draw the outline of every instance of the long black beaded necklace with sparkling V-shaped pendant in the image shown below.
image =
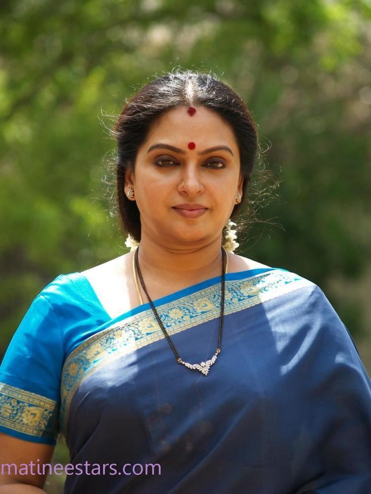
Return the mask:
<path fill-rule="evenodd" d="M 215 363 L 215 361 L 216 361 L 216 359 L 218 357 L 218 354 L 221 352 L 222 335 L 223 335 L 223 324 L 224 324 L 224 302 L 225 302 L 225 286 L 226 286 L 226 259 L 228 260 L 228 256 L 227 256 L 227 253 L 226 253 L 225 249 L 222 247 L 222 265 L 223 265 L 223 268 L 222 268 L 222 293 L 221 293 L 221 306 L 220 306 L 220 319 L 219 319 L 218 348 L 217 348 L 215 354 L 213 355 L 213 357 L 210 360 L 207 360 L 206 362 L 201 362 L 200 364 L 189 364 L 188 362 L 184 362 L 180 358 L 179 353 L 178 353 L 177 349 L 175 348 L 175 345 L 174 345 L 173 341 L 171 340 L 168 332 L 166 331 L 164 325 L 162 324 L 161 318 L 158 315 L 158 312 L 157 312 L 156 307 L 154 306 L 154 304 L 153 304 L 150 296 L 148 295 L 147 288 L 145 288 L 144 280 L 143 280 L 143 277 L 142 277 L 142 274 L 141 274 L 141 271 L 140 271 L 140 268 L 139 268 L 138 250 L 139 250 L 139 247 L 136 249 L 135 254 L 133 256 L 133 259 L 134 259 L 133 264 L 136 267 L 136 271 L 138 273 L 140 285 L 143 288 L 143 291 L 144 291 L 144 293 L 146 294 L 146 296 L 148 298 L 149 305 L 151 306 L 151 309 L 152 309 L 152 311 L 153 311 L 153 313 L 155 315 L 155 318 L 156 318 L 156 320 L 157 320 L 160 328 L 162 329 L 162 332 L 164 333 L 166 339 L 168 340 L 169 345 L 170 345 L 171 349 L 173 350 L 174 355 L 175 355 L 177 361 L 180 364 L 183 364 L 188 369 L 192 369 L 194 371 L 200 371 L 203 375 L 207 375 L 209 373 L 210 367 Z M 135 274 L 136 273 L 134 273 L 134 275 Z M 135 276 L 134 278 L 135 278 L 137 290 L 139 292 L 137 277 Z M 139 292 L 139 295 L 140 295 L 140 292 Z M 140 301 L 141 301 L 141 297 L 140 297 Z"/>

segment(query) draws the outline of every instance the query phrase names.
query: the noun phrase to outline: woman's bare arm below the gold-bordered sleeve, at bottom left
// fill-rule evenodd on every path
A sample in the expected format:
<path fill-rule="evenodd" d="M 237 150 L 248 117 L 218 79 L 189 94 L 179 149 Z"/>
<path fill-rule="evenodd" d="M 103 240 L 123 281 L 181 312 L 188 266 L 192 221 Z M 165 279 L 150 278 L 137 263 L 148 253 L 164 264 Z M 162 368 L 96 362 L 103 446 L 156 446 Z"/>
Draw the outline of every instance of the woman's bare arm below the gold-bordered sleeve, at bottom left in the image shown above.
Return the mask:
<path fill-rule="evenodd" d="M 18 470 L 21 464 L 29 465 L 31 461 L 35 465 L 50 463 L 53 452 L 54 446 L 0 433 L 0 494 L 44 493 L 47 472 L 45 475 L 38 475 L 35 469 L 34 475 L 30 471 L 27 475 L 20 475 Z M 8 467 L 8 464 L 13 466 Z M 17 466 L 17 474 L 14 464 Z"/>

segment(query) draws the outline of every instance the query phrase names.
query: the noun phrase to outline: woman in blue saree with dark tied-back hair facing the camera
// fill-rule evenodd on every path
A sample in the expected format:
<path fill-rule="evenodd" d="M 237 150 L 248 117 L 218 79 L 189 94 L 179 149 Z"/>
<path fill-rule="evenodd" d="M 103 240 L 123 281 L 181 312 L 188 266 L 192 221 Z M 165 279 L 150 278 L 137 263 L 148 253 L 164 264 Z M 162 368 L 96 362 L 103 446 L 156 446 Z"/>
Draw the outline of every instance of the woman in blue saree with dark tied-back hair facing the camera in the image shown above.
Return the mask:
<path fill-rule="evenodd" d="M 49 462 L 60 432 L 66 493 L 371 492 L 371 386 L 347 329 L 310 281 L 222 247 L 257 153 L 244 103 L 166 75 L 115 135 L 139 247 L 34 300 L 1 366 L 1 461 Z M 0 493 L 45 482 L 3 479 Z"/>

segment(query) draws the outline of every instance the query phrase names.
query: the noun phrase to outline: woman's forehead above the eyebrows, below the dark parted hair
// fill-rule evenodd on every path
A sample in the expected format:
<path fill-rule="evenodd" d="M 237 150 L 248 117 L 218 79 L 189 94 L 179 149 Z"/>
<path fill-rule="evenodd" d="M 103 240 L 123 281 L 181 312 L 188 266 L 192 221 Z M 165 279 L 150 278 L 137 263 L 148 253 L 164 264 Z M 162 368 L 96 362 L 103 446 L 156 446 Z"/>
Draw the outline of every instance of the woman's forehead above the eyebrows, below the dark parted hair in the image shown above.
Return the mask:
<path fill-rule="evenodd" d="M 188 107 L 176 107 L 162 113 L 152 124 L 147 141 L 159 138 L 203 142 L 212 145 L 228 144 L 237 147 L 230 124 L 218 113 L 203 106 L 196 107 L 194 115 L 187 112 Z"/>

